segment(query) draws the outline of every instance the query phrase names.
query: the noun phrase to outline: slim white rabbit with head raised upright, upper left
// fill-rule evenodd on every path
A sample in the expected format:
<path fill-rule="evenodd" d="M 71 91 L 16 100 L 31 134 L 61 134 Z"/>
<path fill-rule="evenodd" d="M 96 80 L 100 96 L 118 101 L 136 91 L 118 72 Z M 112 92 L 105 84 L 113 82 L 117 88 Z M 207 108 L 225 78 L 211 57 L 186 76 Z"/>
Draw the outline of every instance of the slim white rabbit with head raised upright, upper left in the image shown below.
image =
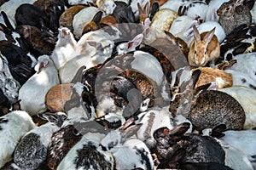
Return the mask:
<path fill-rule="evenodd" d="M 54 61 L 55 67 L 59 70 L 73 53 L 77 41 L 73 37 L 73 33 L 67 28 L 62 27 L 59 29 L 58 41 L 55 44 L 50 58 Z"/>

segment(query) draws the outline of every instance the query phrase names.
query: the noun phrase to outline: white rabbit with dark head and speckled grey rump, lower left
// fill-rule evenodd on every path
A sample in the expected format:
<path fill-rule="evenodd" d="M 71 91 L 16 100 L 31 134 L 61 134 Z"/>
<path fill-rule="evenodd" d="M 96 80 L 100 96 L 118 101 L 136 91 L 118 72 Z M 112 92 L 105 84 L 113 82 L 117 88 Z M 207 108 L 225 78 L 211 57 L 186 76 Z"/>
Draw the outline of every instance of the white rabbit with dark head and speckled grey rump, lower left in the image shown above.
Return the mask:
<path fill-rule="evenodd" d="M 51 135 L 58 131 L 67 119 L 63 112 L 43 114 L 49 122 L 26 133 L 17 144 L 13 159 L 20 169 L 37 169 L 46 160 Z"/>

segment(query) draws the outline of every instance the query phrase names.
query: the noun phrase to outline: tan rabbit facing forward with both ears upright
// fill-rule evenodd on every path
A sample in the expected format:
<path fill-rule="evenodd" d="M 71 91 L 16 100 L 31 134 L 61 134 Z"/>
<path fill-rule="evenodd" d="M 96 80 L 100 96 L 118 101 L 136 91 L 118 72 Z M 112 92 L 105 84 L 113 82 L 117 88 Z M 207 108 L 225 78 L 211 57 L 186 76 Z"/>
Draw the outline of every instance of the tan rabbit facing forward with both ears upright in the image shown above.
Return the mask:
<path fill-rule="evenodd" d="M 202 32 L 201 34 L 195 26 L 194 40 L 189 47 L 189 65 L 205 66 L 209 61 L 218 59 L 220 54 L 218 37 L 214 35 L 215 27 L 211 31 Z"/>

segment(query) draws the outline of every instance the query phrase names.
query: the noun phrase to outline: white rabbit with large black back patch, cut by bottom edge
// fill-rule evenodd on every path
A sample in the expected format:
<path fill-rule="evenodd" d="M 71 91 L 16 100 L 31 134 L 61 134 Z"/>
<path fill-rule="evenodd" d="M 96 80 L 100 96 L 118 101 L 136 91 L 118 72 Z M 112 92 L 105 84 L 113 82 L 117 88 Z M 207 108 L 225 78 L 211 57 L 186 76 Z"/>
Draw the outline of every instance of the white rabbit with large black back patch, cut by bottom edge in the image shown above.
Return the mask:
<path fill-rule="evenodd" d="M 99 147 L 102 133 L 86 133 L 83 138 L 68 151 L 57 170 L 65 169 L 114 169 L 113 155 Z"/>

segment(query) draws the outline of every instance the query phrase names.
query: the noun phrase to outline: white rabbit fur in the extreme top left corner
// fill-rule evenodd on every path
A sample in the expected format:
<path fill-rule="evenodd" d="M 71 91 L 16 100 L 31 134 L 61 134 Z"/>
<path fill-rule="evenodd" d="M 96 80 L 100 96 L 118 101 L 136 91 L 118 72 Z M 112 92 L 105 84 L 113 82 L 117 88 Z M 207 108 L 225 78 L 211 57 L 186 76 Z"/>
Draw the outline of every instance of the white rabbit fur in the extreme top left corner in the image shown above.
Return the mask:
<path fill-rule="evenodd" d="M 16 8 L 20 7 L 20 5 L 23 3 L 32 4 L 34 2 L 36 2 L 36 0 L 9 0 L 8 2 L 3 3 L 3 5 L 0 6 L 0 11 L 4 11 L 9 16 L 9 19 L 12 20 L 11 22 L 16 24 Z"/>

